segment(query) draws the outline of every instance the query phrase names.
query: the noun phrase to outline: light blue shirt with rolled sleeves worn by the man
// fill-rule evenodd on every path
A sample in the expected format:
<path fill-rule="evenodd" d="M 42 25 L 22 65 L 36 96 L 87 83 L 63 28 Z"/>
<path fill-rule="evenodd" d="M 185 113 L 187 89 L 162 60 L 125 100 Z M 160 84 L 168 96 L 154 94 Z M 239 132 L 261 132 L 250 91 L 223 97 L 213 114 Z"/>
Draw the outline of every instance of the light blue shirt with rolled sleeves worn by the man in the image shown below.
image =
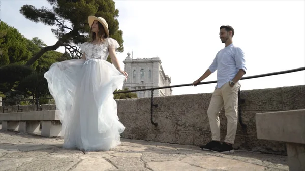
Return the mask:
<path fill-rule="evenodd" d="M 217 70 L 217 85 L 215 88 L 221 88 L 224 84 L 232 80 L 238 71 L 242 69 L 246 73 L 245 53 L 232 44 L 220 50 L 209 70 L 214 73 Z"/>

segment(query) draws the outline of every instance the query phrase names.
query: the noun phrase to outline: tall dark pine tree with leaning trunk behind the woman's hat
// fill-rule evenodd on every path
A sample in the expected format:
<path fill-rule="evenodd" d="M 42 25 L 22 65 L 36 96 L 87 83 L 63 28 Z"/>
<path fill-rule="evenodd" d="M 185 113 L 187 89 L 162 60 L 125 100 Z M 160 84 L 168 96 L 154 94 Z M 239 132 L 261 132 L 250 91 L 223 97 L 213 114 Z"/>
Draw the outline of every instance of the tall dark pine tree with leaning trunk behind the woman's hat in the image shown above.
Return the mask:
<path fill-rule="evenodd" d="M 117 20 L 118 10 L 115 9 L 113 0 L 47 0 L 53 7 L 48 9 L 42 7 L 37 9 L 33 5 L 24 5 L 20 13 L 33 22 L 41 22 L 49 26 L 55 26 L 52 32 L 58 41 L 53 46 L 44 47 L 40 52 L 27 62 L 32 65 L 34 61 L 46 51 L 56 50 L 60 46 L 67 44 L 79 44 L 89 40 L 90 27 L 88 25 L 88 16 L 94 15 L 103 17 L 108 23 L 110 37 L 117 40 L 120 48 L 119 52 L 124 51 L 123 32 L 119 30 Z M 68 23 L 68 24 L 67 24 Z"/>

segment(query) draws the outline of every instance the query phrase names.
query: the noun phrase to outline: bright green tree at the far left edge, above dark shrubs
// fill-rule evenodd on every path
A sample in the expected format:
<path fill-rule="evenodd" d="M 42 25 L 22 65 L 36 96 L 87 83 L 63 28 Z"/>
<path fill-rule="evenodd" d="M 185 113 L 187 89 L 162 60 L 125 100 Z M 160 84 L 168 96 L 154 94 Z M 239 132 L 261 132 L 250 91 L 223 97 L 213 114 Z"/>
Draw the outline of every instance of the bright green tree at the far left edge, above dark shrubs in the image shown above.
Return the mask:
<path fill-rule="evenodd" d="M 0 21 L 0 66 L 24 64 L 32 55 L 26 44 L 26 38 L 16 28 Z"/>

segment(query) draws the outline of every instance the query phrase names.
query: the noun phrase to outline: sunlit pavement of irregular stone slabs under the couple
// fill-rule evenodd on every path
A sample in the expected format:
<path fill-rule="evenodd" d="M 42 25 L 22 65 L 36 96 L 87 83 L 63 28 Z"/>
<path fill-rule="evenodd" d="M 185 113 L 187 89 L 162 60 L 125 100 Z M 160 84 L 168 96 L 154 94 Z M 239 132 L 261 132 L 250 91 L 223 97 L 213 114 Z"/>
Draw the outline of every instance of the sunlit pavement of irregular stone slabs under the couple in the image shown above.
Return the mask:
<path fill-rule="evenodd" d="M 231 154 L 196 146 L 122 139 L 107 152 L 62 149 L 62 138 L 0 131 L 0 171 L 21 170 L 289 170 L 287 157 L 236 150 Z"/>

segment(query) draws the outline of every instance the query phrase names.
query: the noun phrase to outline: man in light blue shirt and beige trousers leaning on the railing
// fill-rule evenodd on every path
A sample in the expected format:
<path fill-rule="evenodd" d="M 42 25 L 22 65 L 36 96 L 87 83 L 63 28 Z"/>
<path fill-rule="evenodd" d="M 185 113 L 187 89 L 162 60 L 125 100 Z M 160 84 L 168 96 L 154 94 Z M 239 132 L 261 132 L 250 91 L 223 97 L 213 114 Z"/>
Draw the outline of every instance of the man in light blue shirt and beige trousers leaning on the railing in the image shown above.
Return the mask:
<path fill-rule="evenodd" d="M 225 47 L 221 49 L 205 71 L 205 73 L 193 85 L 197 86 L 202 80 L 217 70 L 217 85 L 212 95 L 207 115 L 212 133 L 212 141 L 206 145 L 200 146 L 204 150 L 216 152 L 233 152 L 237 129 L 237 108 L 238 108 L 238 91 L 240 89 L 239 80 L 246 74 L 245 55 L 243 51 L 233 45 L 232 37 L 234 29 L 231 26 L 221 26 L 219 37 Z M 227 117 L 227 135 L 224 143 L 220 143 L 220 122 L 219 112 L 225 108 Z"/>

